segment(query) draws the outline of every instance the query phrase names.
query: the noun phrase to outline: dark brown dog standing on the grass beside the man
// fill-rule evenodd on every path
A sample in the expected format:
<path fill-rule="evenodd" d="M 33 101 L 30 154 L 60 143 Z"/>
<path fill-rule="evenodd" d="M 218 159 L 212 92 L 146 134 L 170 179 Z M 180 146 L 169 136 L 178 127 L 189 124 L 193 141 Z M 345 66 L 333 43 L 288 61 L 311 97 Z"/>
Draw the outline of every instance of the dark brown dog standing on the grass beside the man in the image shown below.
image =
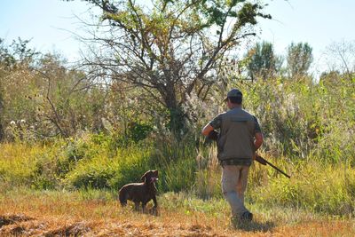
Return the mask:
<path fill-rule="evenodd" d="M 119 191 L 118 197 L 122 207 L 127 205 L 127 200 L 133 201 L 135 209 L 139 209 L 139 203 L 142 203 L 142 209 L 145 211 L 146 203 L 153 199 L 154 211 L 158 207 L 156 202 L 156 187 L 154 182 L 158 180 L 158 170 L 148 170 L 141 178 L 142 183 L 132 183 L 125 186 Z"/>

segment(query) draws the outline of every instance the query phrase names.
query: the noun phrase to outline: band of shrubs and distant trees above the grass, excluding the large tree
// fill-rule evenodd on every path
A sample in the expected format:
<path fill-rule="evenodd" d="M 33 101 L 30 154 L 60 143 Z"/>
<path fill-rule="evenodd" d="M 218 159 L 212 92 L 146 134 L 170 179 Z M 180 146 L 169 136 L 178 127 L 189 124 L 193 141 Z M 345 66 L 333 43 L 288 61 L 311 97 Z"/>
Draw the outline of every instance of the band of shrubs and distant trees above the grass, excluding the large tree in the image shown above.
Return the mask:
<path fill-rule="evenodd" d="M 256 43 L 236 61 L 225 59 L 217 83 L 203 97 L 196 85 L 178 112 L 124 80 L 99 77 L 92 67 L 67 67 L 59 55 L 28 48 L 19 39 L 0 44 L 0 138 L 36 142 L 75 137 L 83 132 L 106 133 L 123 146 L 147 136 L 168 136 L 198 142 L 201 126 L 225 108 L 226 87 L 244 91 L 245 106 L 259 117 L 269 145 L 278 152 L 305 156 L 322 143 L 326 150 L 353 149 L 353 68 L 308 74 L 312 47 L 291 43 L 286 56 L 277 56 L 272 43 Z M 286 59 L 286 63 L 282 61 Z M 124 77 L 124 75 L 121 75 Z M 221 83 L 219 83 L 221 82 Z M 183 95 L 180 95 L 183 96 Z M 339 139 L 339 140 L 336 140 Z"/>

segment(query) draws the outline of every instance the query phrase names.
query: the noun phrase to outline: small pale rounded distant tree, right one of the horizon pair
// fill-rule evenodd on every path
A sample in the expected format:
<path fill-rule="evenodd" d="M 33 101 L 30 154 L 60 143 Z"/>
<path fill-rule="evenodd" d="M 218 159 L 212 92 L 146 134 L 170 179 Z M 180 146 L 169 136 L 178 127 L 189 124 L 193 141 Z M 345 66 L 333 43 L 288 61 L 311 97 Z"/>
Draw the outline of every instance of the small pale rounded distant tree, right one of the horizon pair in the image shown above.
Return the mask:
<path fill-rule="evenodd" d="M 312 47 L 308 43 L 291 43 L 288 46 L 288 75 L 307 75 L 313 61 Z"/>

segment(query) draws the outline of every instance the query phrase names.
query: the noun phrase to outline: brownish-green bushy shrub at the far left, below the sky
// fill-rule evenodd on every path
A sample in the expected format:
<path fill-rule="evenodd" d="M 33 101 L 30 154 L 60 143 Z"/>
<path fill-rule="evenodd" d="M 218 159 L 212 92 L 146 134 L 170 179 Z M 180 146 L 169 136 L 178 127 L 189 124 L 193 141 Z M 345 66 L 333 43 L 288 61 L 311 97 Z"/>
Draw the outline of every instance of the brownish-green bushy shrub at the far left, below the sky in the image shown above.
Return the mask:
<path fill-rule="evenodd" d="M 0 122 L 5 138 L 30 142 L 98 128 L 105 93 L 99 88 L 89 91 L 91 84 L 83 80 L 83 72 L 65 68 L 59 55 L 46 54 L 29 60 L 31 51 L 25 48 L 26 44 L 21 45 L 21 60 L 15 54 L 12 67 L 0 64 L 4 70 L 0 74 L 4 101 Z M 23 60 L 31 61 L 31 65 Z"/>

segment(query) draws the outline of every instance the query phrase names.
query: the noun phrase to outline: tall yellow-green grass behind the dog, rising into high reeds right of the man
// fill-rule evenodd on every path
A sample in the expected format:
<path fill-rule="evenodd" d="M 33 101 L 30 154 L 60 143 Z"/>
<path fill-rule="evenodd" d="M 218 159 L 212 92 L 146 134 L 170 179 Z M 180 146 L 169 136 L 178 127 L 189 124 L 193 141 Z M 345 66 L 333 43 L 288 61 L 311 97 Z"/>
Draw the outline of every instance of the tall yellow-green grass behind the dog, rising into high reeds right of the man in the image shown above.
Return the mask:
<path fill-rule="evenodd" d="M 343 79 L 327 86 L 302 80 L 258 82 L 253 90 L 250 84 L 235 85 L 245 91 L 245 107 L 264 130 L 260 153 L 292 176 L 284 178 L 255 163 L 247 201 L 354 216 L 354 87 Z M 200 128 L 195 129 L 199 134 Z M 0 144 L 0 179 L 6 187 L 115 192 L 157 169 L 160 194 L 185 192 L 213 200 L 222 197 L 216 157 L 214 144 L 199 143 L 191 134 L 122 144 L 114 134 L 83 133 L 48 144 Z"/>

